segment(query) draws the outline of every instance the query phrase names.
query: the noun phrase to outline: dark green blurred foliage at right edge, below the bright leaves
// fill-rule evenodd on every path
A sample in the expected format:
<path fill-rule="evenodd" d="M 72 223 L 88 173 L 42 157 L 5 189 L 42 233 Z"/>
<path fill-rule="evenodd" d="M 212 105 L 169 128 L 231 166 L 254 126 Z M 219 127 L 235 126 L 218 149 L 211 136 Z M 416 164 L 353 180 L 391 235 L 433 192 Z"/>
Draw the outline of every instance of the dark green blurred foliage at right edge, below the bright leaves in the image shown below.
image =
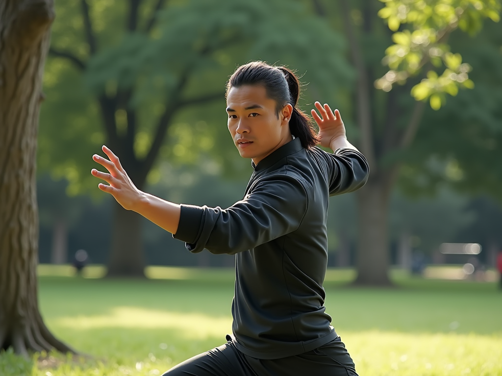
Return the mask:
<path fill-rule="evenodd" d="M 447 184 L 502 202 L 502 25 L 488 24 L 475 38 L 454 33 L 450 43 L 471 62 L 476 86 L 426 111 L 413 146 L 396 156 L 405 163 L 400 185 L 415 195 Z"/>

